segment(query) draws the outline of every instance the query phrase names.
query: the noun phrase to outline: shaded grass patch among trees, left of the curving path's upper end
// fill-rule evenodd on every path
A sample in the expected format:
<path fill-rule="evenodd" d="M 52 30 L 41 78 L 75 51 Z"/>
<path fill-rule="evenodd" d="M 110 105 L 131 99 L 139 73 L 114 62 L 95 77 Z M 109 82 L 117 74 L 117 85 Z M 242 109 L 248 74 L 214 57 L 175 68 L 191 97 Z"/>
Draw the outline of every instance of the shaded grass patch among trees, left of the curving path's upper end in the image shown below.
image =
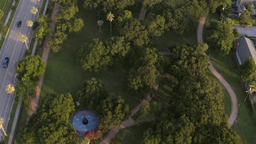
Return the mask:
<path fill-rule="evenodd" d="M 196 31 L 183 35 L 170 31 L 155 40 L 158 51 L 169 51 L 168 48 L 173 45 L 197 43 L 197 36 Z"/>

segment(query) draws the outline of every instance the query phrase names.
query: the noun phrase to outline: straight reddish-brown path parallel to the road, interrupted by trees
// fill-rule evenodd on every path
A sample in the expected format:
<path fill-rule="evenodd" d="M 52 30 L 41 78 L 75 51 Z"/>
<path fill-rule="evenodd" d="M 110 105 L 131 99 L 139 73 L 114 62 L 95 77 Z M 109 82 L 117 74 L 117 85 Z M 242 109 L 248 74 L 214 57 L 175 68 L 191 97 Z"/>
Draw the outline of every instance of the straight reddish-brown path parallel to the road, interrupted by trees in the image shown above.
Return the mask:
<path fill-rule="evenodd" d="M 59 11 L 60 5 L 58 3 L 54 4 L 54 8 L 53 8 L 53 13 L 51 14 L 51 20 L 53 20 L 53 23 L 51 23 L 50 25 L 50 29 L 52 32 L 54 32 L 54 21 L 55 21 L 55 16 L 57 14 L 57 12 Z M 47 64 L 47 60 L 48 60 L 48 56 L 49 56 L 49 47 L 48 47 L 48 40 L 45 39 L 44 41 L 44 46 L 43 46 L 43 54 L 42 54 L 42 58 L 43 60 L 46 62 Z M 28 119 L 34 114 L 36 113 L 37 110 L 37 104 L 39 101 L 39 97 L 40 97 L 40 92 L 41 92 L 41 88 L 43 85 L 43 81 L 44 81 L 44 75 L 42 77 L 40 77 L 40 80 L 38 82 L 37 85 L 37 92 L 36 92 L 36 97 L 32 99 L 31 103 L 30 103 L 30 110 L 28 111 L 28 116 L 27 116 L 27 121 Z"/>

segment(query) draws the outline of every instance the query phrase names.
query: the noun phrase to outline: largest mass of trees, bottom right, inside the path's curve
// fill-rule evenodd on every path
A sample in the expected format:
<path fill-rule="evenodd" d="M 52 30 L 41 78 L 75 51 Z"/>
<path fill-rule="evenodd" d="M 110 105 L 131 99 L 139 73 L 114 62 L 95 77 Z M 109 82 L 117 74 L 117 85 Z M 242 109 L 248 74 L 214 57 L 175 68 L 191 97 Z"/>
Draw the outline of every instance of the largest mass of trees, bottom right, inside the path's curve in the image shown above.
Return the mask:
<path fill-rule="evenodd" d="M 145 143 L 242 143 L 229 129 L 220 86 L 207 77 L 185 77 L 170 108 L 144 133 Z M 154 124 L 153 124 L 154 125 Z"/>

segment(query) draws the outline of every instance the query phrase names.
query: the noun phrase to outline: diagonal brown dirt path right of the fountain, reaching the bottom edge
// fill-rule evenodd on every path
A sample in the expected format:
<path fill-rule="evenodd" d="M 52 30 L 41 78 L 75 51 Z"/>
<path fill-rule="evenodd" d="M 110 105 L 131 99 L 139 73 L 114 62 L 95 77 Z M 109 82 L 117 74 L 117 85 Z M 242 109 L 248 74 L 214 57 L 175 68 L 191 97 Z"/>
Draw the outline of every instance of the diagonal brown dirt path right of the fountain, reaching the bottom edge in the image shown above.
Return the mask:
<path fill-rule="evenodd" d="M 118 128 L 110 129 L 110 131 L 108 132 L 107 136 L 104 137 L 104 139 L 100 142 L 100 144 L 106 144 L 106 143 L 108 144 L 108 143 L 110 143 L 110 141 L 113 140 L 115 138 L 115 136 L 117 136 L 119 129 L 131 127 L 132 125 L 136 125 L 137 123 L 135 121 L 133 121 L 133 119 L 131 117 L 134 116 L 139 111 L 139 107 L 141 105 L 143 105 L 145 103 L 148 103 L 150 100 L 151 100 L 151 98 L 148 95 L 146 97 L 146 99 L 143 99 L 141 101 L 141 103 L 139 105 L 137 105 L 131 111 L 131 115 L 129 116 L 129 118 L 126 121 L 121 122 L 121 125 Z"/>

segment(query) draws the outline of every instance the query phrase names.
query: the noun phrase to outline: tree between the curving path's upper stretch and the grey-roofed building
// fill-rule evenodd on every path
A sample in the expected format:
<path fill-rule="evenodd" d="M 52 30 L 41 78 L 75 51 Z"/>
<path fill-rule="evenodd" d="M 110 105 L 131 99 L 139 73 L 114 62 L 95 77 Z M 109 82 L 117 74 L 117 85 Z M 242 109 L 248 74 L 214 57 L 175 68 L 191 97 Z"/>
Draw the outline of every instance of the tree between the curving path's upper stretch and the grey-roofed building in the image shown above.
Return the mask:
<path fill-rule="evenodd" d="M 210 28 L 208 28 L 207 39 L 208 43 L 215 45 L 218 51 L 227 55 L 234 43 L 235 36 L 232 31 L 232 25 L 229 19 L 223 23 L 212 20 Z"/>

